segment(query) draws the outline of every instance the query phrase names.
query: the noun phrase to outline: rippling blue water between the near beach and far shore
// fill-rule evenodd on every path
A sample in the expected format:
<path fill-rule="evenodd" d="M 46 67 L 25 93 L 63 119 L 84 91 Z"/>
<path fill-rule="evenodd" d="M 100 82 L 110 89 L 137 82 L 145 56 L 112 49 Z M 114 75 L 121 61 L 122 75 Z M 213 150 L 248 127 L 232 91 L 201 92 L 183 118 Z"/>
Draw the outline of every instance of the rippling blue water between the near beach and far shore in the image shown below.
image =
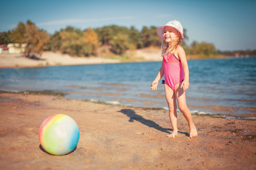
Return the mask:
<path fill-rule="evenodd" d="M 150 88 L 161 64 L 0 69 L 0 90 L 57 91 L 71 99 L 167 109 L 164 85 L 159 83 L 157 91 Z M 189 60 L 189 109 L 212 114 L 256 114 L 255 65 L 256 57 Z"/>

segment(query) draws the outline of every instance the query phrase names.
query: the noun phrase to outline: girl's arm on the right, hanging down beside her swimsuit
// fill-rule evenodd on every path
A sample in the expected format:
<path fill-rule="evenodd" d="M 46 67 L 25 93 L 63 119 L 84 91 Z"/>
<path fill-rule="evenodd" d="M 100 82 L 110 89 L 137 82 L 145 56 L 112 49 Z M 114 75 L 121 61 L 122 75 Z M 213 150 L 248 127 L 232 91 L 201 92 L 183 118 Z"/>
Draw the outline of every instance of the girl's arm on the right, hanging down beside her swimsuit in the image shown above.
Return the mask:
<path fill-rule="evenodd" d="M 183 90 L 186 91 L 188 89 L 188 86 L 189 86 L 188 61 L 187 61 L 185 51 L 180 45 L 177 46 L 177 54 L 179 56 L 181 65 L 183 67 L 183 73 L 184 73 L 184 80 L 181 83 L 181 87 L 183 87 Z"/>

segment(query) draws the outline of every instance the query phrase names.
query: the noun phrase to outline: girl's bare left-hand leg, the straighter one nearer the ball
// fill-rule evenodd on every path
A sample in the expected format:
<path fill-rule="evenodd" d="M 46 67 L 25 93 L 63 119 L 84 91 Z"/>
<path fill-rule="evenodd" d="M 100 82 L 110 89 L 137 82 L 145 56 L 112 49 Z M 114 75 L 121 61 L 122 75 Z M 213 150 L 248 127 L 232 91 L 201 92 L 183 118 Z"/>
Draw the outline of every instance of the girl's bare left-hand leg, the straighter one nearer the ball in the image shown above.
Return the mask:
<path fill-rule="evenodd" d="M 176 97 L 174 91 L 164 84 L 164 92 L 166 94 L 166 101 L 169 108 L 169 117 L 172 125 L 172 133 L 168 134 L 167 137 L 175 138 L 177 135 L 177 104 L 176 104 Z"/>

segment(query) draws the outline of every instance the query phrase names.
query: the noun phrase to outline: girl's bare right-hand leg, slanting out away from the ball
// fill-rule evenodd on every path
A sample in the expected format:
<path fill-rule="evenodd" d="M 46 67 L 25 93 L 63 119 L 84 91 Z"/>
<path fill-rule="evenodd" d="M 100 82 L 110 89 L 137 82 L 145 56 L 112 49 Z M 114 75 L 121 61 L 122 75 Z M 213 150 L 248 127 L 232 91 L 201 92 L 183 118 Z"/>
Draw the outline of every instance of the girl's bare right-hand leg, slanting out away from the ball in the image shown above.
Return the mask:
<path fill-rule="evenodd" d="M 175 85 L 175 96 L 177 99 L 180 112 L 183 113 L 183 116 L 188 121 L 189 137 L 195 138 L 197 136 L 196 126 L 193 123 L 191 112 L 187 107 L 185 92 L 183 90 L 183 87 L 181 87 L 181 83 Z"/>

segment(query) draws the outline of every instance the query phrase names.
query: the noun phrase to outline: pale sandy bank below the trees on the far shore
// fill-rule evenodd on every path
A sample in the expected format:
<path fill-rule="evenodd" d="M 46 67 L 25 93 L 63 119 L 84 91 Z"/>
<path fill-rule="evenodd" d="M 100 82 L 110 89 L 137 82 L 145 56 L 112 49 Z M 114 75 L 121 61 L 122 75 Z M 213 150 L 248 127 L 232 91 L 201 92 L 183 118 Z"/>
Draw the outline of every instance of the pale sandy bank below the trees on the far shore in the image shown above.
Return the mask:
<path fill-rule="evenodd" d="M 136 61 L 161 61 L 159 49 L 140 49 L 130 52 Z M 23 57 L 23 54 L 3 54 L 0 56 L 0 68 L 4 67 L 38 67 L 56 65 L 86 65 L 100 63 L 118 63 L 120 59 L 110 59 L 103 57 L 71 57 L 68 54 L 44 52 L 40 56 L 41 60 Z"/>

